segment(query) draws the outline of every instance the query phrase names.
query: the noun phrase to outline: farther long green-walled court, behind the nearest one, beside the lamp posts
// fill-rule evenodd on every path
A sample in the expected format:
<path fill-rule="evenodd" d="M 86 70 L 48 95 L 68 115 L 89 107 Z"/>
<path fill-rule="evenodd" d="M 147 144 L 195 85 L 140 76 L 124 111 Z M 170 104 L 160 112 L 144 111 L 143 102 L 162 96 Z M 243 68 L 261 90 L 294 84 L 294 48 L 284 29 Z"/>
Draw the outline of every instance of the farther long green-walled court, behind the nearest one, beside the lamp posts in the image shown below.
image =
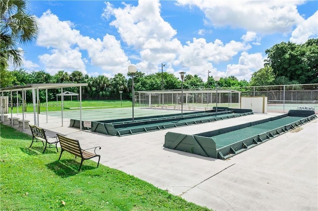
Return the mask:
<path fill-rule="evenodd" d="M 253 114 L 250 109 L 232 109 L 228 107 L 209 111 L 195 111 L 180 114 L 168 114 L 135 118 L 113 119 L 103 121 L 91 121 L 91 131 L 111 136 L 124 136 L 136 133 L 145 133 L 172 127 L 201 124 L 222 119 L 235 118 Z M 80 121 L 71 119 L 70 126 L 79 128 Z M 82 128 L 84 128 L 82 122 Z"/>

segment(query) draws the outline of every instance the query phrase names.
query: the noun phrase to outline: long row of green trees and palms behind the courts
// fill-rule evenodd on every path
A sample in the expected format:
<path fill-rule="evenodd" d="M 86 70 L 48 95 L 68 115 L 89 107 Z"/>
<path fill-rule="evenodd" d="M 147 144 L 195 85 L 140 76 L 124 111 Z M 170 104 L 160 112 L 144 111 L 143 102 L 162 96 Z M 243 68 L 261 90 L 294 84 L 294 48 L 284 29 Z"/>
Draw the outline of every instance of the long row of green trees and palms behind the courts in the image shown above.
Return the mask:
<path fill-rule="evenodd" d="M 50 75 L 44 70 L 28 72 L 24 69 L 10 71 L 13 78 L 11 86 L 20 86 L 33 83 L 87 83 L 87 86 L 82 87 L 83 100 L 119 100 L 120 91 L 122 91 L 122 99 L 131 99 L 132 79 L 130 73 L 127 78 L 121 74 L 116 74 L 113 78 L 108 78 L 104 75 L 88 76 L 83 75 L 76 70 L 69 74 L 66 71 L 59 71 L 55 75 Z M 174 74 L 167 72 L 154 73 L 146 75 L 143 72 L 134 74 L 135 91 L 151 91 L 162 89 L 162 78 L 164 90 L 176 90 L 181 88 L 181 81 Z M 183 80 L 184 89 L 215 89 L 216 82 L 212 76 L 208 82 L 203 82 L 202 78 L 197 75 L 186 75 Z M 239 81 L 236 77 L 224 77 L 218 82 L 219 87 L 244 87 L 248 86 L 246 80 Z M 79 87 L 63 88 L 63 91 L 79 93 Z M 60 94 L 61 89 L 48 90 L 48 100 L 55 100 L 56 94 Z M 45 101 L 45 90 L 40 90 L 39 98 L 41 102 Z M 26 100 L 32 99 L 31 92 L 27 92 Z"/>

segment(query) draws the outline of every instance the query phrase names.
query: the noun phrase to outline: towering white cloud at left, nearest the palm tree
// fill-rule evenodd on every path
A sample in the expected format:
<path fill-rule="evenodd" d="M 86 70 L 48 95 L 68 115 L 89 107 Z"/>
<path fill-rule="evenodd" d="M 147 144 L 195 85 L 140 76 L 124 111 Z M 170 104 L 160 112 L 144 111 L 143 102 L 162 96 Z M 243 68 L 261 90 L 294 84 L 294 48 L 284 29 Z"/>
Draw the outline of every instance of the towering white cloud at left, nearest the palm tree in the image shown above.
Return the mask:
<path fill-rule="evenodd" d="M 86 74 L 85 64 L 91 64 L 108 71 L 110 75 L 126 73 L 128 57 L 121 44 L 112 35 L 106 34 L 103 40 L 84 37 L 73 29 L 70 21 L 61 21 L 50 10 L 39 18 L 37 45 L 53 48 L 49 53 L 38 56 L 46 71 L 79 70 Z M 82 57 L 83 51 L 88 57 Z"/>

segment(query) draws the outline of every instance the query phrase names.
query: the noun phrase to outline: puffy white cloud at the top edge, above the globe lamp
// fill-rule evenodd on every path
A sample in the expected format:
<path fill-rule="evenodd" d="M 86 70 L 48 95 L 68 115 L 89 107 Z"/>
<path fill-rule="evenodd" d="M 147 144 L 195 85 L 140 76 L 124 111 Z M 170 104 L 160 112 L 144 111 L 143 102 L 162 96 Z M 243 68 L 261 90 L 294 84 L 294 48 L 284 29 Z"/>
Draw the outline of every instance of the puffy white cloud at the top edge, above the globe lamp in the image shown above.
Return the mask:
<path fill-rule="evenodd" d="M 110 25 L 117 28 L 129 46 L 142 48 L 149 39 L 169 41 L 176 31 L 160 16 L 159 0 L 139 0 L 138 6 L 127 4 L 125 8 L 113 8 L 106 3 L 103 16 L 115 16 Z"/>

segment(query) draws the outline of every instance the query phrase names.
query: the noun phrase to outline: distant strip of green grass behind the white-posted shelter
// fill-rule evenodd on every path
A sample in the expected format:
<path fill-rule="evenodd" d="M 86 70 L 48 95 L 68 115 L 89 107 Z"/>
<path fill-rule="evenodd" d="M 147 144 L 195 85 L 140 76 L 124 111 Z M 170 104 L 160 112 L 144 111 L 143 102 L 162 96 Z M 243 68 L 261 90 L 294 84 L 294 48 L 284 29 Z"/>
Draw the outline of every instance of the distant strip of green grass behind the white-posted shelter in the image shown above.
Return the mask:
<path fill-rule="evenodd" d="M 79 101 L 64 101 L 64 110 L 79 109 Z M 61 111 L 61 101 L 48 102 L 48 111 Z M 131 107 L 132 102 L 129 100 L 116 101 L 91 101 L 84 100 L 81 102 L 82 109 L 98 109 L 98 108 L 116 108 L 116 107 Z M 22 113 L 22 106 L 19 106 L 19 113 Z M 26 112 L 33 112 L 33 104 L 27 103 Z M 9 108 L 9 113 L 11 112 Z M 46 102 L 40 102 L 40 112 L 46 112 Z M 12 107 L 12 113 L 17 113 L 17 108 Z"/>

